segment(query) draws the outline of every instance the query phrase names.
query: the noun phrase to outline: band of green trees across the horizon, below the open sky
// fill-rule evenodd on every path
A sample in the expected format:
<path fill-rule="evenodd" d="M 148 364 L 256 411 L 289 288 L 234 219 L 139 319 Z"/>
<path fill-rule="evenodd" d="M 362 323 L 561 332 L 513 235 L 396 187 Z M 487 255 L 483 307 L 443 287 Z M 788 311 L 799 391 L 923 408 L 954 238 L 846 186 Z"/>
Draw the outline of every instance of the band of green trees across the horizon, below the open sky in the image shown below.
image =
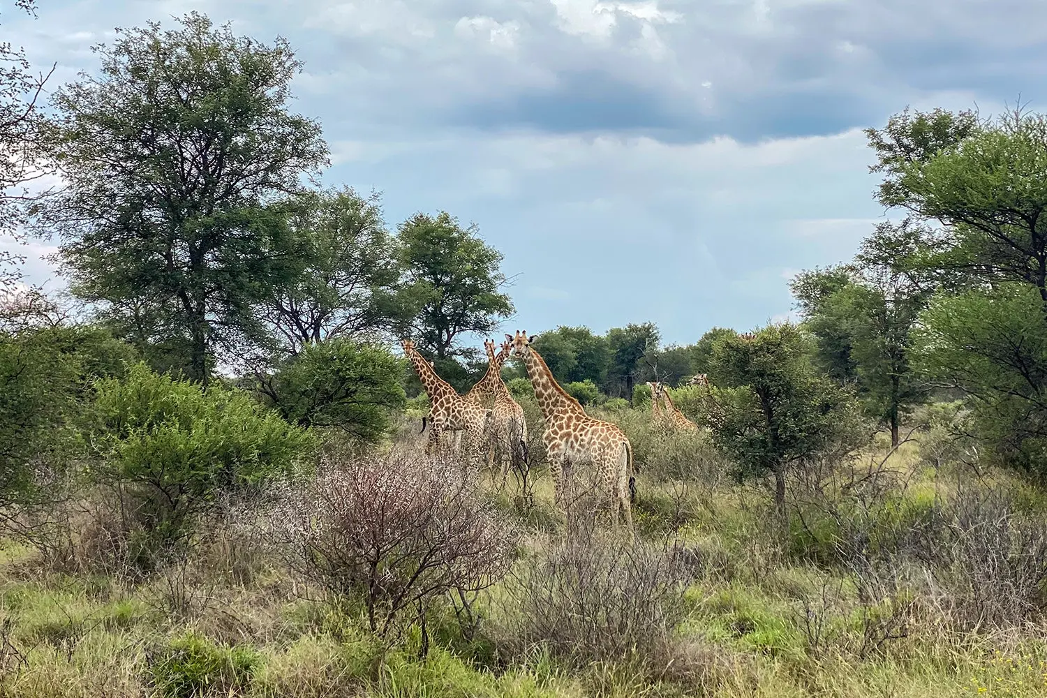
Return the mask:
<path fill-rule="evenodd" d="M 99 70 L 54 89 L 49 109 L 24 59 L 0 89 L 4 182 L 38 171 L 63 182 L 5 198 L 2 226 L 58 238 L 87 311 L 64 324 L 101 353 L 57 338 L 50 299 L 8 293 L 0 383 L 12 396 L 31 402 L 19 366 L 50 337 L 55 357 L 77 355 L 70 376 L 112 373 L 112 357 L 130 353 L 157 373 L 247 388 L 298 426 L 374 440 L 419 390 L 393 338 L 411 336 L 460 389 L 480 376 L 469 340 L 515 312 L 502 254 L 446 211 L 389 226 L 377 194 L 320 186 L 328 148 L 320 126 L 289 108 L 302 64 L 286 41 L 193 13 L 94 50 Z M 799 327 L 755 341 L 714 328 L 683 346 L 663 346 L 649 322 L 602 335 L 557 327 L 535 341 L 557 380 L 599 404 L 636 402 L 648 380 L 708 374 L 723 390 L 709 423 L 749 440 L 747 457 L 771 470 L 803 457 L 788 455 L 779 418 L 802 435 L 853 405 L 898 444 L 916 406 L 958 399 L 958 429 L 1001 461 L 1047 473 L 1047 119 L 906 110 L 866 133 L 891 218 L 853 260 L 793 280 Z M 518 366 L 505 377 L 525 378 Z M 742 388 L 731 412 L 730 390 Z"/>

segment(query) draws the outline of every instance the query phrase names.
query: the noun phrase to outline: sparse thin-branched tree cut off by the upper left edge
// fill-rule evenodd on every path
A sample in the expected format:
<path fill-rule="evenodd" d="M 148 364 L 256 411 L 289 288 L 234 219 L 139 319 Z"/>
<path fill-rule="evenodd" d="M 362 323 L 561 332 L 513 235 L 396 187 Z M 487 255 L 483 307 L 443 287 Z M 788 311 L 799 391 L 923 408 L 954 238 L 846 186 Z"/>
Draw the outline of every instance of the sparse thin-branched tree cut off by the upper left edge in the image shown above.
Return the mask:
<path fill-rule="evenodd" d="M 34 14 L 36 0 L 15 0 L 15 7 Z M 21 240 L 23 204 L 31 201 L 26 185 L 43 176 L 38 167 L 37 103 L 54 66 L 46 74 L 34 75 L 25 52 L 0 43 L 0 234 Z M 0 250 L 0 288 L 18 280 L 13 268 L 23 261 Z"/>

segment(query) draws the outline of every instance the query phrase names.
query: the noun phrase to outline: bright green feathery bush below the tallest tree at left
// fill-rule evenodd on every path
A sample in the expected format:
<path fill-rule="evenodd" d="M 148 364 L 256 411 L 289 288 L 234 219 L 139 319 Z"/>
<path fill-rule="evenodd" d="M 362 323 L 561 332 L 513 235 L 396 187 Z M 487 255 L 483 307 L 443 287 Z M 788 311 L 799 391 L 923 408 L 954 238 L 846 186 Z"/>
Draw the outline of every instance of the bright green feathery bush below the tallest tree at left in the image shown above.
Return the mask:
<path fill-rule="evenodd" d="M 148 548 L 184 540 L 223 494 L 291 475 L 314 445 L 249 395 L 133 366 L 98 383 L 95 478 L 115 486 Z M 142 550 L 148 551 L 148 550 Z M 135 556 L 137 558 L 137 556 Z"/>

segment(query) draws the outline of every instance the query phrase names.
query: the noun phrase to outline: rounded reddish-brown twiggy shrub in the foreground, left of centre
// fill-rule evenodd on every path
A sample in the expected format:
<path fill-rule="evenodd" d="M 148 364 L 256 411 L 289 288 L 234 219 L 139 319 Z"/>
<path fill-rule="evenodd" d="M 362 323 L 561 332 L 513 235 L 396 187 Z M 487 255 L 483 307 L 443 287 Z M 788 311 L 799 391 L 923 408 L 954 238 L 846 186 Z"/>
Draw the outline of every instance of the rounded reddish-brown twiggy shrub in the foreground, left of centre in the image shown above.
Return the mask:
<path fill-rule="evenodd" d="M 393 450 L 326 461 L 287 492 L 267 530 L 293 569 L 335 601 L 361 601 L 372 632 L 398 636 L 449 594 L 467 608 L 511 564 L 515 527 L 462 468 Z"/>

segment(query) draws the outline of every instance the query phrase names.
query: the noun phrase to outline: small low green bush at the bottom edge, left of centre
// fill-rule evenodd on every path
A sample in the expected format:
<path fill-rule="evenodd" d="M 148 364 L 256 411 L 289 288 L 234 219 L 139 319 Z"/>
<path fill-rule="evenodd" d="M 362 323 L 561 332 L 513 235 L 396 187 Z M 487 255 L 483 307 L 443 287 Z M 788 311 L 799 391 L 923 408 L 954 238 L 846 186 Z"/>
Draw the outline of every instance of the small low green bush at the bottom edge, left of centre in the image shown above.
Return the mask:
<path fill-rule="evenodd" d="M 262 660 L 251 648 L 220 647 L 193 632 L 151 655 L 153 684 L 166 698 L 236 695 L 248 688 Z"/>

